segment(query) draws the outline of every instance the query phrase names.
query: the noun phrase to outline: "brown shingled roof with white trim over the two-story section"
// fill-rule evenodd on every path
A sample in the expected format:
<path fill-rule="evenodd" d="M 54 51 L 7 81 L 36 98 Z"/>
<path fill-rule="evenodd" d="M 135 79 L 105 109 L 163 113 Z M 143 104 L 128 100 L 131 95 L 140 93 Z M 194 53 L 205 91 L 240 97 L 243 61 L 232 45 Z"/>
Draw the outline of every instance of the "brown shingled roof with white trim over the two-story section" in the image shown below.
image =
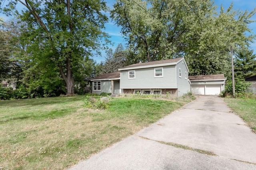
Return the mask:
<path fill-rule="evenodd" d="M 119 71 L 122 70 L 130 70 L 130 69 L 141 69 L 141 68 L 148 68 L 148 67 L 160 67 L 160 66 L 166 66 L 166 65 L 176 65 L 180 61 L 185 60 L 183 57 L 181 58 L 174 58 L 174 59 L 166 59 L 166 60 L 160 60 L 160 61 L 152 61 L 152 62 L 146 62 L 146 63 L 137 63 L 128 65 L 126 67 L 122 67 L 118 69 Z M 184 62 L 186 64 L 186 62 Z M 187 69 L 188 66 L 186 65 Z"/>

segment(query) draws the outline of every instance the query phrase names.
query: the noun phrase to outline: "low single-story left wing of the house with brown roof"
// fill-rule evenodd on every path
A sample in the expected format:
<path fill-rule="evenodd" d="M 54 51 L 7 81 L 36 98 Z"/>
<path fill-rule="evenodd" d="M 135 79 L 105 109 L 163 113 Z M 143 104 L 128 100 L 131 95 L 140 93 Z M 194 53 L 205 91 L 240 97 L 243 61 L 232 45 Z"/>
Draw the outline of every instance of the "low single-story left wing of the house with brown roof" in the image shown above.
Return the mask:
<path fill-rule="evenodd" d="M 120 91 L 120 72 L 104 73 L 93 79 L 92 93 L 100 94 L 102 92 L 119 94 Z"/>

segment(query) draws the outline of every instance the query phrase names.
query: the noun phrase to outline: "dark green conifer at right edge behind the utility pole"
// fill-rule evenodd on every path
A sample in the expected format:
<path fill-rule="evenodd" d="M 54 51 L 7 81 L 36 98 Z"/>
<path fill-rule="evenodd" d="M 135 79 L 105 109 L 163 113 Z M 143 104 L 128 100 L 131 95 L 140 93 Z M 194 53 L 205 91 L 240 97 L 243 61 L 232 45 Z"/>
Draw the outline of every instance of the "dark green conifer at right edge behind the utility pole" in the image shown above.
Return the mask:
<path fill-rule="evenodd" d="M 235 77 L 244 79 L 256 75 L 256 55 L 248 47 L 239 49 L 234 59 Z"/>

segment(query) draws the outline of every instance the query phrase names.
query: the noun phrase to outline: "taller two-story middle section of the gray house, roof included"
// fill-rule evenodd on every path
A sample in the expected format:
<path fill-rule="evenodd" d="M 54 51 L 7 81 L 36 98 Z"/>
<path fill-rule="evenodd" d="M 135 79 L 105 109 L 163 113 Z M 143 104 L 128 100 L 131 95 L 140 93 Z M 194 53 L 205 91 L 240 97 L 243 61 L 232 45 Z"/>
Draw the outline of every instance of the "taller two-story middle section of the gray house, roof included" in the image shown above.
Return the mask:
<path fill-rule="evenodd" d="M 188 66 L 184 58 L 128 65 L 120 71 L 120 93 L 181 96 L 190 91 Z"/>

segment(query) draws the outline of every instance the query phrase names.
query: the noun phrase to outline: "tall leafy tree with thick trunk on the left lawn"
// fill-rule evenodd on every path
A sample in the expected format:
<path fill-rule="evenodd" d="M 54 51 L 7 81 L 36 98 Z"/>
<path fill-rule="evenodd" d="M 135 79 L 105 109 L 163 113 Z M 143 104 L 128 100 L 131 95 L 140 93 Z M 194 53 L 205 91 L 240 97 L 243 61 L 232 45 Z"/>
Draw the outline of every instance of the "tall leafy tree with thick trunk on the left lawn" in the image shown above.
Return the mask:
<path fill-rule="evenodd" d="M 18 12 L 16 5 L 22 5 L 24 10 Z M 81 63 L 107 38 L 102 32 L 108 20 L 102 14 L 107 10 L 106 3 L 102 0 L 9 0 L 1 10 L 6 15 L 14 11 L 27 23 L 22 39 L 29 44 L 27 57 L 34 71 L 44 74 L 44 79 L 61 75 L 67 95 L 74 94 L 74 76 L 80 75 Z"/>

